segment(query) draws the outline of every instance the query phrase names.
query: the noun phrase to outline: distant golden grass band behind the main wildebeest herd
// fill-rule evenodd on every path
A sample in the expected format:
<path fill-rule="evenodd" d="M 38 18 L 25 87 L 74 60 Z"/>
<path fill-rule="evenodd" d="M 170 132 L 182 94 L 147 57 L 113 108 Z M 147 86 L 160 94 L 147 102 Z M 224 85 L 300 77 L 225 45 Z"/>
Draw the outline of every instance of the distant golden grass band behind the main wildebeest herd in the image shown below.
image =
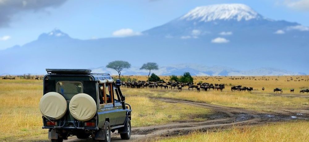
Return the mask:
<path fill-rule="evenodd" d="M 148 76 L 122 76 L 124 78 L 135 78 L 137 80 L 146 81 Z M 159 76 L 164 81 L 170 79 L 169 76 Z M 291 77 L 293 80 L 291 80 Z M 118 78 L 118 77 L 114 77 Z M 234 79 L 230 79 L 234 78 Z M 238 79 L 235 79 L 238 78 Z M 284 93 L 290 94 L 290 89 L 294 88 L 295 93 L 299 93 L 300 89 L 309 88 L 309 76 L 255 76 L 253 77 L 238 77 L 238 76 L 193 76 L 194 83 L 199 81 L 208 82 L 213 84 L 225 84 L 227 90 L 231 90 L 231 86 L 247 86 L 253 87 L 254 90 L 262 91 L 262 87 L 265 88 L 264 92 L 273 93 L 274 88 L 280 88 Z M 265 80 L 267 79 L 267 81 Z M 277 79 L 277 80 L 276 80 Z M 287 81 L 289 80 L 289 81 Z M 295 94 L 294 93 L 294 94 Z"/>

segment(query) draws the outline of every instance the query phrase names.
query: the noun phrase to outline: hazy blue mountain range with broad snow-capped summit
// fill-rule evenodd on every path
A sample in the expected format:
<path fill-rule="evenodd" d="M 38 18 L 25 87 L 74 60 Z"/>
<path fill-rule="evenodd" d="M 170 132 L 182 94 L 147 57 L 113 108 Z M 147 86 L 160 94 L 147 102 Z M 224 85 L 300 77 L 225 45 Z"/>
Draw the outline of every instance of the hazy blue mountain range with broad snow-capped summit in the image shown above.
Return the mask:
<path fill-rule="evenodd" d="M 132 66 L 156 62 L 161 75 L 184 71 L 195 75 L 283 75 L 285 70 L 290 71 L 287 74 L 309 74 L 308 52 L 309 27 L 267 19 L 243 4 L 222 4 L 193 8 L 138 36 L 78 40 L 55 29 L 28 44 L 1 50 L 0 74 L 97 68 L 115 60 Z M 203 67 L 179 65 L 182 63 Z M 136 68 L 127 73 L 143 71 Z"/>

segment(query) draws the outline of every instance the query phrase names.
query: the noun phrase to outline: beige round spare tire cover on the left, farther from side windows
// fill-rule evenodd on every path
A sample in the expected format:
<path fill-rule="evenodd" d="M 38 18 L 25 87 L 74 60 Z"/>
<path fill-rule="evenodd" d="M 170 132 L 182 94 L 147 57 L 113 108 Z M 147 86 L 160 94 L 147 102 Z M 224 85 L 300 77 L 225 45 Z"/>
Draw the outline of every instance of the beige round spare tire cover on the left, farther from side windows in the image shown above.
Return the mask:
<path fill-rule="evenodd" d="M 48 92 L 40 100 L 40 111 L 47 119 L 61 119 L 67 110 L 66 99 L 57 92 Z"/>

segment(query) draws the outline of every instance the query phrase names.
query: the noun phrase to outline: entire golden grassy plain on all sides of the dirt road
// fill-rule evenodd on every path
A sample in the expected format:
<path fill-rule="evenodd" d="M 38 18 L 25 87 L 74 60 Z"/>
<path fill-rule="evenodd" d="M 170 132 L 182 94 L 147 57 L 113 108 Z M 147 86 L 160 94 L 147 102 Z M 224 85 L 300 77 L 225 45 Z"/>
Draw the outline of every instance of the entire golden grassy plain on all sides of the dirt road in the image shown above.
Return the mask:
<path fill-rule="evenodd" d="M 293 78 L 293 80 L 291 80 L 291 77 Z M 177 98 L 195 102 L 207 102 L 216 105 L 246 108 L 261 112 L 273 112 L 278 110 L 286 111 L 289 109 L 309 110 L 308 97 L 293 97 L 293 95 L 298 94 L 300 89 L 309 87 L 309 76 L 291 77 L 245 77 L 244 79 L 240 79 L 243 77 L 193 77 L 195 82 L 203 81 L 213 84 L 224 83 L 226 84 L 226 89 L 223 92 L 213 90 L 209 92 L 197 92 L 192 90 L 188 91 L 185 87 L 182 92 L 171 89 L 128 89 L 124 87 L 122 87 L 122 90 L 124 94 L 128 94 L 126 100 L 133 107 L 132 125 L 133 127 L 139 127 L 171 123 L 175 121 L 186 121 L 188 119 L 195 118 L 195 115 L 200 117 L 202 116 L 201 118 L 195 119 L 196 121 L 200 121 L 205 120 L 206 115 L 212 114 L 212 111 L 205 111 L 204 108 L 201 109 L 198 107 L 192 107 L 178 103 L 159 102 L 146 98 L 148 96 Z M 137 80 L 147 80 L 146 76 L 130 76 L 130 78 L 136 78 Z M 166 81 L 169 79 L 169 77 L 167 76 L 162 76 L 161 78 L 165 79 Z M 265 79 L 267 79 L 267 81 Z M 230 86 L 234 85 L 253 87 L 254 90 L 252 91 L 252 93 L 233 93 L 229 88 Z M 265 87 L 264 92 L 261 90 L 262 87 Z M 277 96 L 269 94 L 273 93 L 273 88 L 276 87 L 283 89 L 285 94 L 287 93 L 290 95 Z M 291 88 L 295 89 L 294 94 L 290 93 L 289 90 Z M 309 94 L 301 95 L 308 96 Z M 47 140 L 47 130 L 41 129 L 41 114 L 38 108 L 38 103 L 41 96 L 41 80 L 26 80 L 19 78 L 17 78 L 16 80 L 0 79 L 0 122 L 2 123 L 2 127 L 0 127 L 0 141 L 22 141 L 34 139 Z M 235 128 L 232 130 L 222 131 L 218 133 L 207 133 L 206 135 L 204 133 L 193 133 L 192 136 L 196 137 L 197 140 L 204 141 L 205 136 L 220 136 L 221 138 L 226 138 L 223 137 L 223 135 L 226 133 L 229 133 L 230 135 L 237 134 L 238 136 L 249 136 L 249 134 L 257 130 L 265 131 L 264 135 L 269 136 L 271 135 L 269 134 L 270 132 L 277 132 L 275 131 L 275 129 L 282 130 L 282 136 L 285 134 L 287 134 L 287 136 L 294 136 L 294 131 L 291 131 L 290 133 L 288 133 L 288 131 L 283 131 L 287 126 L 290 127 L 293 125 L 300 128 L 305 126 L 308 128 L 309 126 L 308 122 L 293 122 L 291 124 L 281 123 L 280 125 L 248 127 L 245 129 L 245 133 L 242 131 L 244 129 Z M 269 131 L 266 131 L 267 129 L 269 129 Z M 308 134 L 307 129 L 303 130 L 304 131 L 302 131 L 302 133 Z M 295 136 L 302 137 L 303 135 L 299 133 L 300 132 L 297 133 L 298 135 L 295 134 Z M 189 138 L 192 138 L 192 136 L 184 136 L 180 139 L 184 139 L 185 141 L 191 141 Z M 257 134 L 255 136 L 257 136 Z M 277 138 L 281 137 L 278 136 Z M 237 140 L 240 139 L 235 138 L 235 140 L 232 141 Z M 260 139 L 248 137 L 248 140 L 259 141 Z M 269 140 L 271 141 L 272 139 Z M 286 140 L 294 141 L 299 139 L 290 139 L 288 137 L 288 139 Z"/>

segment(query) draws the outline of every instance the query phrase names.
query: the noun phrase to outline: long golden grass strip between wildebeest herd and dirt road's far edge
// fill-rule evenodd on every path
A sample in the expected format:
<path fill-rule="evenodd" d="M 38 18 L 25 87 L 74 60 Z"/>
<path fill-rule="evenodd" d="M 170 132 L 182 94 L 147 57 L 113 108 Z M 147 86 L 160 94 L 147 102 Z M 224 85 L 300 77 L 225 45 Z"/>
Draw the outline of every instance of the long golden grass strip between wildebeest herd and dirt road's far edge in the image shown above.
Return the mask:
<path fill-rule="evenodd" d="M 284 111 L 285 109 L 309 109 L 309 98 L 284 97 L 269 94 L 252 94 L 248 92 L 188 91 L 164 89 L 123 88 L 123 94 L 175 98 L 193 102 L 206 102 L 214 105 L 245 108 L 260 112 Z"/>

